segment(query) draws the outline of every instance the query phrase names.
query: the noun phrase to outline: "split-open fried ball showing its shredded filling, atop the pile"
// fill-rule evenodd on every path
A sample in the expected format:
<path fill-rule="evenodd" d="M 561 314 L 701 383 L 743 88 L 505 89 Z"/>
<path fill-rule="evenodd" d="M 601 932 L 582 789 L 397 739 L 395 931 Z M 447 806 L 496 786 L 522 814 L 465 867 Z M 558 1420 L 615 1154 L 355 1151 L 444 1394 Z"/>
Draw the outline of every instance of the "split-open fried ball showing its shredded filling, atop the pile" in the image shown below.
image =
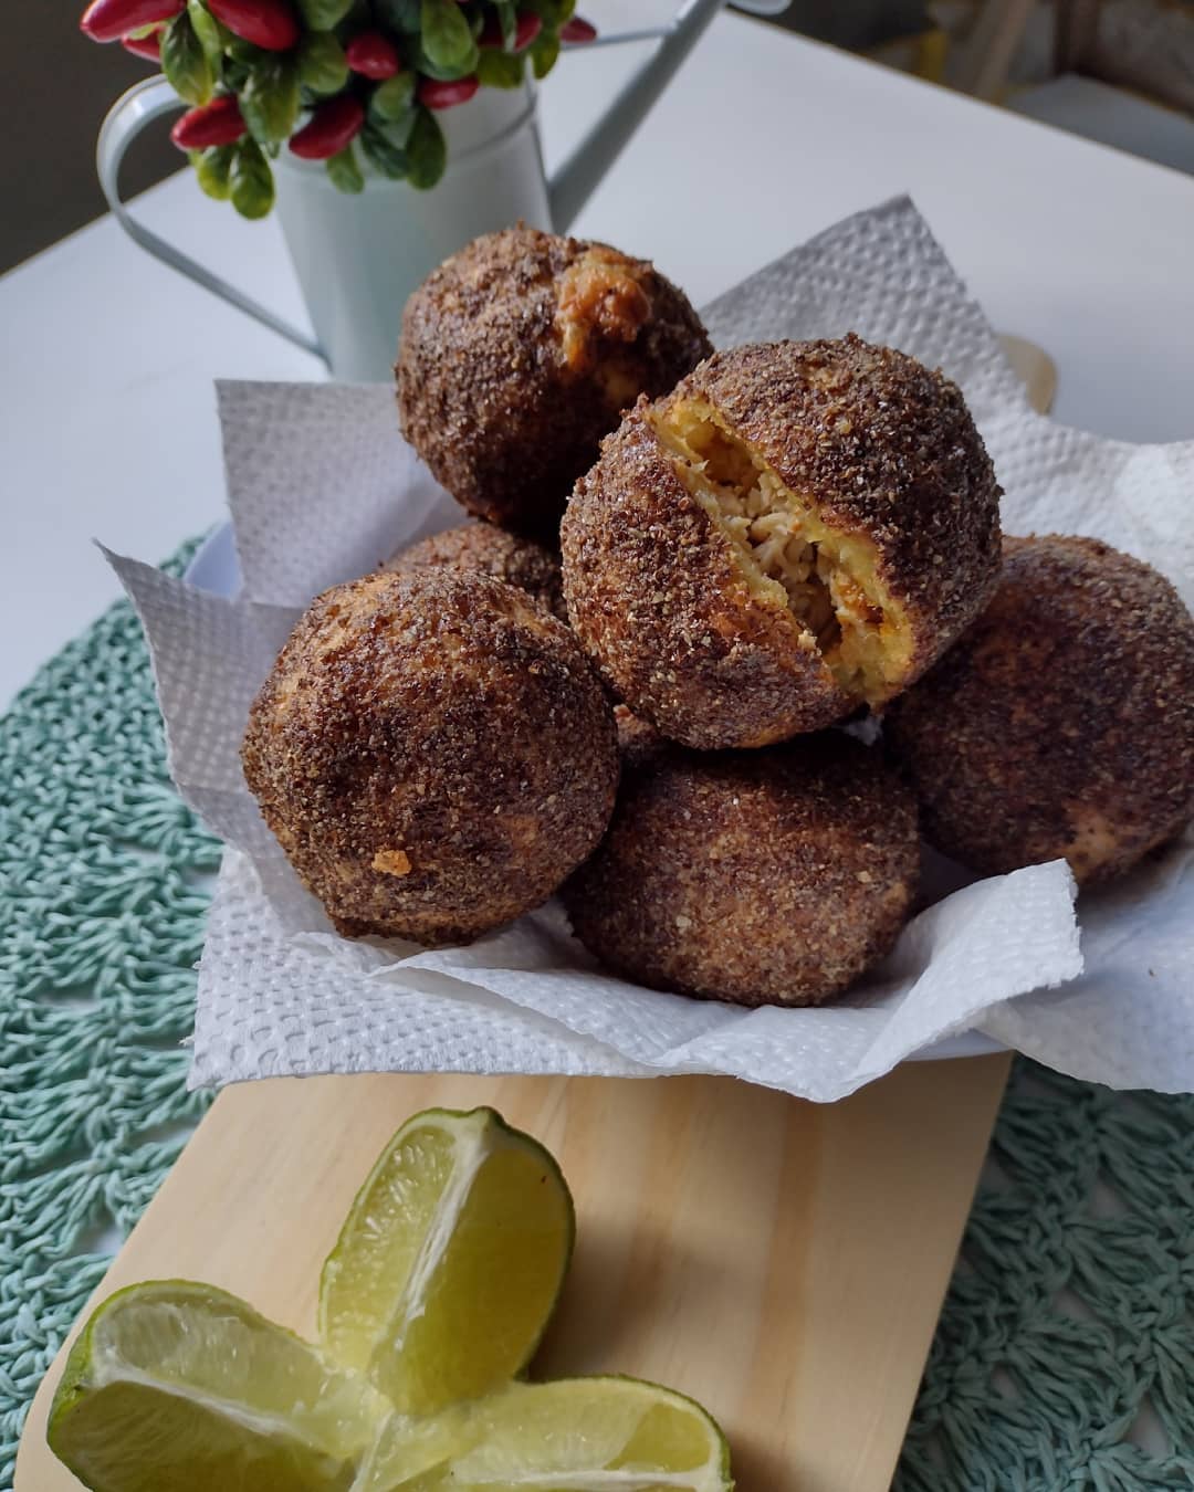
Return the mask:
<path fill-rule="evenodd" d="M 664 736 L 766 746 L 881 709 L 945 652 L 994 591 L 998 495 L 957 386 L 901 352 L 719 352 L 576 483 L 569 616 Z"/>

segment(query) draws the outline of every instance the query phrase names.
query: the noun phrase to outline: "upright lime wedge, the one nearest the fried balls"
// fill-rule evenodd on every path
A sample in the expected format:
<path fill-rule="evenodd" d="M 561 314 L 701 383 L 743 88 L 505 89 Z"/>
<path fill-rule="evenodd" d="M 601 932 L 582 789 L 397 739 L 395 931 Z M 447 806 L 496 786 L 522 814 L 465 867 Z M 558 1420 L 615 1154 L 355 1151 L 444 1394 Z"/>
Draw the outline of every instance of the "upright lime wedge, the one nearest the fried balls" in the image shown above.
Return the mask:
<path fill-rule="evenodd" d="M 415 1115 L 324 1264 L 324 1346 L 406 1414 L 488 1394 L 534 1352 L 573 1232 L 560 1167 L 530 1135 L 493 1109 Z"/>

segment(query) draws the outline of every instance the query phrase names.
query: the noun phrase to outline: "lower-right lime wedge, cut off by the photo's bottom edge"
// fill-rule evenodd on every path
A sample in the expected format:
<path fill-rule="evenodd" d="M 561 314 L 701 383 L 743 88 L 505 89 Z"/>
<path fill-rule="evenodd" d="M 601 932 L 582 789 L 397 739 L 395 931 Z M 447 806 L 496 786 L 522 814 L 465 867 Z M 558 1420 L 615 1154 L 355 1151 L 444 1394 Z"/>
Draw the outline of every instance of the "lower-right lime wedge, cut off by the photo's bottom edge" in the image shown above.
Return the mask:
<path fill-rule="evenodd" d="M 521 1488 L 730 1492 L 733 1482 L 725 1437 L 693 1399 L 636 1379 L 566 1379 L 512 1383 L 463 1419 L 396 1417 L 354 1492 Z"/>

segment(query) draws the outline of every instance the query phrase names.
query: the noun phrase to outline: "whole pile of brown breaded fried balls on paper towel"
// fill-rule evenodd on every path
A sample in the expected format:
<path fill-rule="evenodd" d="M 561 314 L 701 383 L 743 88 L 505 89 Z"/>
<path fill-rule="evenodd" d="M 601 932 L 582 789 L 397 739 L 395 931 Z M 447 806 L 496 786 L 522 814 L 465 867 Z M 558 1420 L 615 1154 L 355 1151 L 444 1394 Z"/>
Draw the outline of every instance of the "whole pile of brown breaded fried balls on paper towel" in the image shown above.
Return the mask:
<path fill-rule="evenodd" d="M 342 934 L 558 892 L 627 979 L 818 1004 L 891 949 L 921 836 L 1097 883 L 1194 816 L 1194 621 L 1103 543 L 1001 536 L 939 372 L 715 354 L 651 264 L 522 227 L 412 295 L 396 372 L 470 521 L 312 603 L 242 750 Z"/>

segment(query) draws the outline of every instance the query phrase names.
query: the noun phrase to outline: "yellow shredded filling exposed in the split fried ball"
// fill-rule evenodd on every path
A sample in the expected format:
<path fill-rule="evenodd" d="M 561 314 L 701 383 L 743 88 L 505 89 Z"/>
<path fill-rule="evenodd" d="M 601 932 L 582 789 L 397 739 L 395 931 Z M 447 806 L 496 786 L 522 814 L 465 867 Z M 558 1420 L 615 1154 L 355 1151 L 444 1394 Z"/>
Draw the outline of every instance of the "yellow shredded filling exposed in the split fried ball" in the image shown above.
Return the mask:
<path fill-rule="evenodd" d="M 824 524 L 816 504 L 787 488 L 707 406 L 675 404 L 657 431 L 688 489 L 737 549 L 752 588 L 787 604 L 848 694 L 888 698 L 910 639 L 882 600 L 870 540 Z"/>

